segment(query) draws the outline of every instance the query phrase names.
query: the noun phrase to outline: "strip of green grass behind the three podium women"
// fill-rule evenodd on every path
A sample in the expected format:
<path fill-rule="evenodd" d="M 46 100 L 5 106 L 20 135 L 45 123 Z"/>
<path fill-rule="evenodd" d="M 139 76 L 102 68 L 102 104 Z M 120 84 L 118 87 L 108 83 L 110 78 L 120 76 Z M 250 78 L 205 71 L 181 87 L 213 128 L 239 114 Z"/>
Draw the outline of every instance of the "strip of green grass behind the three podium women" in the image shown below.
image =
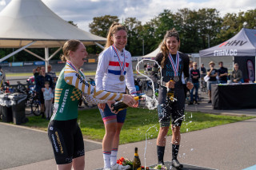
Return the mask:
<path fill-rule="evenodd" d="M 181 132 L 191 132 L 254 118 L 195 112 L 186 112 L 185 115 Z M 41 117 L 29 117 L 29 120 L 26 126 L 47 130 L 48 121 L 45 121 Z M 102 140 L 105 134 L 105 128 L 98 109 L 79 111 L 78 124 L 85 138 L 98 141 Z M 146 140 L 146 136 L 147 139 L 156 138 L 158 136 L 158 129 L 158 114 L 156 110 L 129 108 L 126 122 L 123 125 L 120 135 L 120 144 Z M 169 135 L 171 135 L 171 131 Z"/>

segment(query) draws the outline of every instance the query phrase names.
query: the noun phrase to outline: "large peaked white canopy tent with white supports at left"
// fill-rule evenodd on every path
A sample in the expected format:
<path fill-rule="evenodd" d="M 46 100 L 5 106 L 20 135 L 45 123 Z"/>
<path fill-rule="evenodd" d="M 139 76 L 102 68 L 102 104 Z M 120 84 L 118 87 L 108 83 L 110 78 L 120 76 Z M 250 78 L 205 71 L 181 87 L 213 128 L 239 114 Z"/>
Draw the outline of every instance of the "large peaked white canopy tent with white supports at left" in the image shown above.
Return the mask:
<path fill-rule="evenodd" d="M 12 0 L 0 13 L 0 48 L 19 48 L 1 61 L 21 50 L 46 61 L 54 57 L 69 39 L 78 39 L 84 45 L 98 45 L 106 38 L 80 30 L 54 14 L 41 0 Z M 26 48 L 45 48 L 45 57 L 40 57 Z M 49 57 L 49 48 L 59 47 Z M 46 67 L 47 69 L 47 67 Z"/>

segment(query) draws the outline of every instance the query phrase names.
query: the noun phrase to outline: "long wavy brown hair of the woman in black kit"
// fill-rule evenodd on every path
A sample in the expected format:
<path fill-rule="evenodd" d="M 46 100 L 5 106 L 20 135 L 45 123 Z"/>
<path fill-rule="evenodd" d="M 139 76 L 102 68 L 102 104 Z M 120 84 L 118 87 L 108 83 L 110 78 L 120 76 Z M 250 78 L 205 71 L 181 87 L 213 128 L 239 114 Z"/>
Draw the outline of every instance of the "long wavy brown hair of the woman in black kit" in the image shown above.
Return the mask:
<path fill-rule="evenodd" d="M 162 40 L 162 44 L 160 45 L 160 49 L 162 50 L 162 54 L 163 54 L 163 58 L 162 58 L 162 61 L 161 61 L 161 67 L 162 68 L 167 63 L 169 49 L 166 46 L 166 39 L 170 38 L 170 37 L 176 38 L 177 41 L 179 42 L 179 35 L 178 35 L 177 30 L 175 30 L 175 28 L 173 28 L 173 30 L 167 30 L 166 31 L 166 35 Z"/>

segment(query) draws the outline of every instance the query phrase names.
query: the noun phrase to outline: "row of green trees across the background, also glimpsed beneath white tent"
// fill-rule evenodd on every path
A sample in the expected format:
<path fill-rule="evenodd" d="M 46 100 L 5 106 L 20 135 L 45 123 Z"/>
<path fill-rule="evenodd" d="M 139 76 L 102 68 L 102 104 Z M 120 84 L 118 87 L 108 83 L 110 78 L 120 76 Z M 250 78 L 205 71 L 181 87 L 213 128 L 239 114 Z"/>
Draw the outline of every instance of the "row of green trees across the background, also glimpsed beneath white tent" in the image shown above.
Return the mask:
<path fill-rule="evenodd" d="M 90 23 L 90 33 L 101 37 L 107 35 L 113 22 L 120 22 L 118 16 L 104 15 L 94 17 Z M 70 24 L 77 26 L 74 22 Z M 256 9 L 241 11 L 238 14 L 225 14 L 221 17 L 219 11 L 214 8 L 202 8 L 190 10 L 180 9 L 177 12 L 163 10 L 162 13 L 152 18 L 144 25 L 137 18 L 125 18 L 122 22 L 128 30 L 128 42 L 126 49 L 132 56 L 142 56 L 158 48 L 162 42 L 166 30 L 175 28 L 181 39 L 180 51 L 182 53 L 198 53 L 208 46 L 218 45 L 232 38 L 242 27 L 256 29 Z M 102 49 L 96 45 L 86 47 L 88 53 L 100 53 Z M 6 56 L 13 49 L 0 49 L 0 56 Z M 42 53 L 44 49 L 30 49 L 34 53 Z M 54 53 L 55 49 L 50 49 Z M 26 56 L 26 57 L 25 57 Z M 53 59 L 59 59 L 57 54 Z M 12 61 L 11 58 L 9 58 Z M 29 53 L 22 51 L 15 55 L 15 61 L 34 61 Z"/>

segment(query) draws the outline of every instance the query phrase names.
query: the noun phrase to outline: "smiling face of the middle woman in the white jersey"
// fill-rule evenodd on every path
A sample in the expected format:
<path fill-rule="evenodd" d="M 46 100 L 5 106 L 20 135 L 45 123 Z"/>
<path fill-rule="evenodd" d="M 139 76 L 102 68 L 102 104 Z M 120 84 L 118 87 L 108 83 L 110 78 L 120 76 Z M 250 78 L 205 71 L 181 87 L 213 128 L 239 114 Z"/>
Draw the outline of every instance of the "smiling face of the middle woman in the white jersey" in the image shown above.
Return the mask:
<path fill-rule="evenodd" d="M 115 47 L 122 51 L 127 43 L 127 33 L 125 30 L 118 30 L 113 36 L 111 36 L 112 42 L 114 42 Z"/>

